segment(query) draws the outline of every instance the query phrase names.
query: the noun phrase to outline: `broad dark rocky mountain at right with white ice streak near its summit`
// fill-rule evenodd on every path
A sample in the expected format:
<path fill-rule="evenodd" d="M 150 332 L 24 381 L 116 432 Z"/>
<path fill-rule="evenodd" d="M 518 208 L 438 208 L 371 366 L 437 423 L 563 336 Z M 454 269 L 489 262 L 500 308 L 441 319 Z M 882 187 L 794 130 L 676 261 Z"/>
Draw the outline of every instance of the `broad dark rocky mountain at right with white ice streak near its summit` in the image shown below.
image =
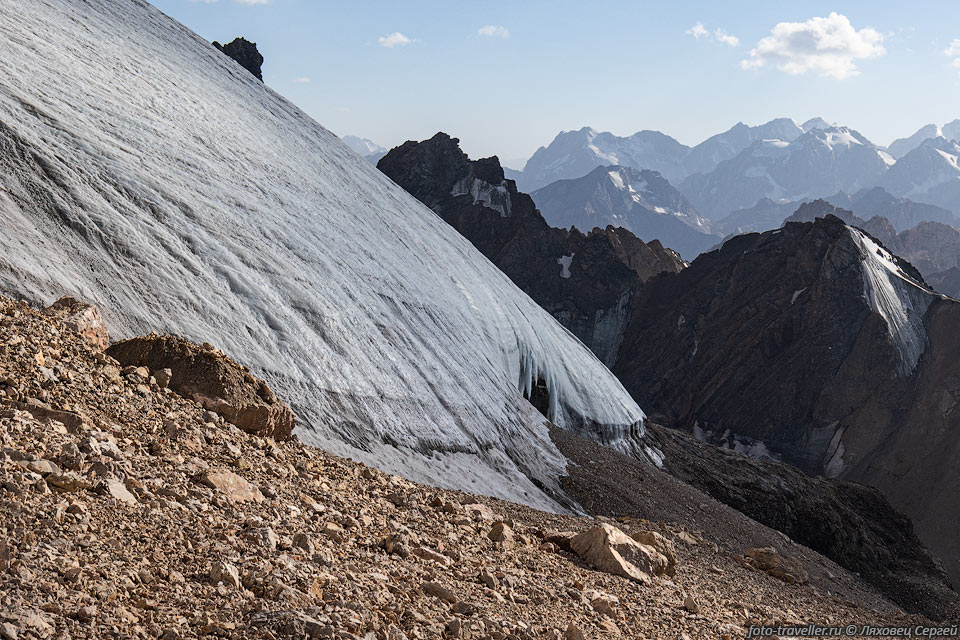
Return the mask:
<path fill-rule="evenodd" d="M 957 581 L 955 301 L 828 215 L 733 238 L 633 309 L 614 370 L 652 412 L 881 489 Z"/>

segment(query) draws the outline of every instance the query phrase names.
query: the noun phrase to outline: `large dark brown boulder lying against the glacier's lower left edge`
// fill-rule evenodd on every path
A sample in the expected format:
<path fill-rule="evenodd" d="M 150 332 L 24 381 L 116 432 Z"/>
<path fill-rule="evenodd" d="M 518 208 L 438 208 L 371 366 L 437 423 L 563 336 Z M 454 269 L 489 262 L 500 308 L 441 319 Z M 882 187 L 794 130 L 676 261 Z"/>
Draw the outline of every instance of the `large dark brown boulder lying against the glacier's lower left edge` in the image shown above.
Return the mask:
<path fill-rule="evenodd" d="M 107 354 L 124 366 L 169 369 L 169 386 L 247 433 L 292 437 L 295 418 L 267 384 L 209 345 L 151 335 L 112 345 Z"/>

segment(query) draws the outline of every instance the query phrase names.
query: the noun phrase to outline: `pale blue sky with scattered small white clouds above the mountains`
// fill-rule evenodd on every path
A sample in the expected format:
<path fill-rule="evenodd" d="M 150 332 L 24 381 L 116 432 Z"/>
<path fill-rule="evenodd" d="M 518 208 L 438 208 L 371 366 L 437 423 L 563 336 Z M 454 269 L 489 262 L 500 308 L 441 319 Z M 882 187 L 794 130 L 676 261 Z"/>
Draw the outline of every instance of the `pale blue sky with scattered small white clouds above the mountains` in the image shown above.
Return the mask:
<path fill-rule="evenodd" d="M 267 84 L 387 147 L 445 131 L 515 165 L 582 126 L 695 144 L 822 116 L 889 144 L 960 118 L 955 2 L 152 1 L 257 42 Z"/>

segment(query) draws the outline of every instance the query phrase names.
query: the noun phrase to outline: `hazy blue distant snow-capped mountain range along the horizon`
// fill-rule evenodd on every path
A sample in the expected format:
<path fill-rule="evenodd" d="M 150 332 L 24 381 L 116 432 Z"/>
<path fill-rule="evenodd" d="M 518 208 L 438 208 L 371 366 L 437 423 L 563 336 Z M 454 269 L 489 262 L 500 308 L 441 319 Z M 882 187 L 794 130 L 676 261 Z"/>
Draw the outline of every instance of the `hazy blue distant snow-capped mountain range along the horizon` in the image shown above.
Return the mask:
<path fill-rule="evenodd" d="M 822 118 L 803 124 L 787 118 L 758 126 L 738 123 L 693 147 L 656 131 L 640 131 L 624 138 L 585 127 L 561 132 L 550 145 L 537 150 L 522 171 L 507 171 L 506 176 L 521 190 L 530 192 L 539 204 L 537 196 L 541 192 L 567 193 L 571 185 L 566 181 L 584 179 L 577 189 L 591 188 L 602 167 L 655 171 L 708 221 L 711 232 L 721 235 L 770 228 L 778 218 L 782 221 L 796 209 L 793 203 L 838 194 L 857 197 L 882 187 L 914 203 L 911 211 L 901 214 L 890 211 L 889 203 L 875 203 L 888 207 L 884 215 L 889 214 L 903 230 L 912 226 L 911 221 L 951 221 L 948 213 L 919 205 L 946 209 L 950 214 L 960 211 L 960 168 L 956 160 L 960 147 L 952 141 L 958 135 L 960 121 L 943 127 L 930 125 L 896 141 L 891 145 L 892 153 L 856 130 Z M 629 196 L 596 195 L 589 207 L 610 209 L 608 218 L 630 219 L 628 211 L 633 204 Z M 583 195 L 577 198 L 587 199 Z M 622 205 L 616 202 L 621 200 Z M 551 210 L 545 212 L 548 218 L 556 208 L 552 204 L 541 206 Z M 589 227 L 592 215 L 590 211 L 580 216 L 565 211 L 557 224 Z M 617 224 L 615 218 L 611 219 Z M 636 225 L 630 228 L 644 240 L 652 240 L 661 232 L 656 225 L 650 232 Z M 660 239 L 692 257 L 676 241 Z"/>

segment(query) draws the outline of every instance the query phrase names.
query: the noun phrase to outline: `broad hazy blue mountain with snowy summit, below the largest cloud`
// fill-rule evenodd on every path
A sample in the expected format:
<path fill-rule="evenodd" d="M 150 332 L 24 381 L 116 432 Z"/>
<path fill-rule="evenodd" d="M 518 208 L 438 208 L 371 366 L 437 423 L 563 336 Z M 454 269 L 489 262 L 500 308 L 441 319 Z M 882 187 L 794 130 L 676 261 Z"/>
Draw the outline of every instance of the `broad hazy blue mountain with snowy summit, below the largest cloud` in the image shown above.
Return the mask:
<path fill-rule="evenodd" d="M 852 129 L 811 129 L 793 141 L 754 142 L 679 189 L 704 216 L 718 219 L 761 198 L 783 202 L 859 191 L 874 186 L 893 162 Z"/>

